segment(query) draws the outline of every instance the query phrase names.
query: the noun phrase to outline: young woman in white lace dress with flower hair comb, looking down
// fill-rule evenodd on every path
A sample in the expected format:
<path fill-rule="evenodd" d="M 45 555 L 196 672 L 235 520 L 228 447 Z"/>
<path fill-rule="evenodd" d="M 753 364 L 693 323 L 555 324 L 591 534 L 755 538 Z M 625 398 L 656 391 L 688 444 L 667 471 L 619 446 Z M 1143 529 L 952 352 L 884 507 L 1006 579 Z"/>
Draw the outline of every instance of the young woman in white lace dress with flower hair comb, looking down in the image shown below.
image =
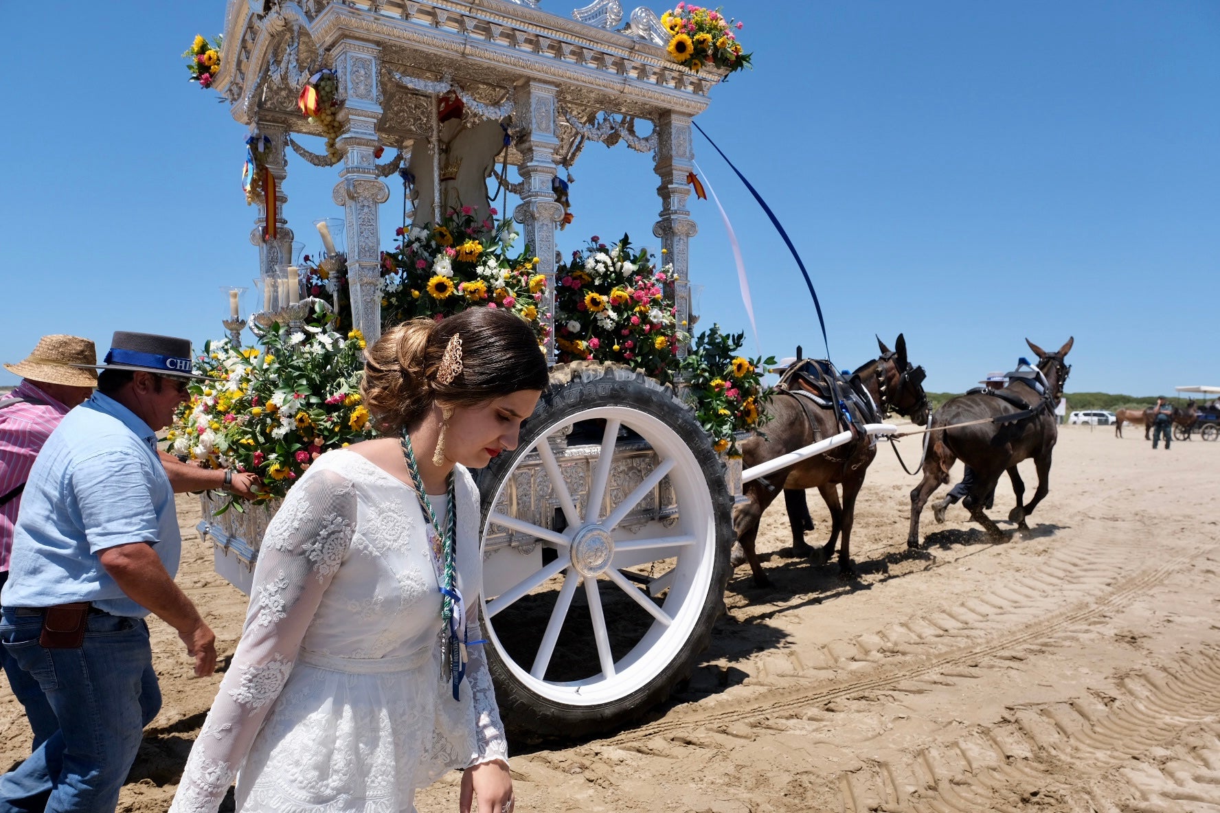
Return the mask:
<path fill-rule="evenodd" d="M 415 319 L 368 349 L 384 436 L 329 451 L 259 551 L 232 666 L 171 811 L 400 813 L 453 768 L 460 809 L 511 813 L 477 619 L 479 497 L 466 467 L 517 445 L 547 386 L 518 317 Z"/>

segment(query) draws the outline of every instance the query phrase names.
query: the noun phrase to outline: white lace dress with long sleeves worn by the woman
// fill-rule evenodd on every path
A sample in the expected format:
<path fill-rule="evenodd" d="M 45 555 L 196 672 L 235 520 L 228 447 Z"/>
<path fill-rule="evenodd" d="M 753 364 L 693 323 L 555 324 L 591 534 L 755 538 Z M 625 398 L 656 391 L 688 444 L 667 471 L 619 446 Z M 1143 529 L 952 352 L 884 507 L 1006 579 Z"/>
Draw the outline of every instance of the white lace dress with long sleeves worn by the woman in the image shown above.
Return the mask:
<path fill-rule="evenodd" d="M 458 584 L 478 629 L 478 491 L 456 468 Z M 415 494 L 348 450 L 322 455 L 262 540 L 233 663 L 171 811 L 399 813 L 451 768 L 508 762 L 482 646 L 443 683 L 440 592 Z"/>

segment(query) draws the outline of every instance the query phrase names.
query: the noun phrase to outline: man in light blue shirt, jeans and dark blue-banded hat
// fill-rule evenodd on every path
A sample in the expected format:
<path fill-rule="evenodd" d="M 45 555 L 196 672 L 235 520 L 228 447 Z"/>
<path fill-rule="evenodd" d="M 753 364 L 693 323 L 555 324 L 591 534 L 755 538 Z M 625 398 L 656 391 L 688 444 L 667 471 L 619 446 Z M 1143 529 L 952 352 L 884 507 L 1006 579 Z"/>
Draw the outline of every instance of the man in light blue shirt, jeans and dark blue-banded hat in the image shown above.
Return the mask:
<path fill-rule="evenodd" d="M 161 708 L 144 617 L 216 666 L 216 636 L 173 583 L 182 539 L 156 430 L 189 396 L 190 341 L 115 333 L 98 391 L 34 461 L 0 594 L 0 640 L 40 685 L 59 730 L 0 779 L 0 813 L 113 811 Z"/>

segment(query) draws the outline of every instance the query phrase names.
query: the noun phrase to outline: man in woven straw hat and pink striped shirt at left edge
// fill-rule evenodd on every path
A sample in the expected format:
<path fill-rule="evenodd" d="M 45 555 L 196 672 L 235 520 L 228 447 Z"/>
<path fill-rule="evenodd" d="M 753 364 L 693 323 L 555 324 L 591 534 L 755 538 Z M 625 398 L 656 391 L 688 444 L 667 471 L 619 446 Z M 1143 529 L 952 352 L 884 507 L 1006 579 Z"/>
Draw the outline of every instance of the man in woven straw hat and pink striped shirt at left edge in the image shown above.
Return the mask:
<path fill-rule="evenodd" d="M 95 363 L 98 352 L 92 341 L 55 334 L 39 339 L 23 361 L 4 366 L 22 382 L 0 400 L 0 588 L 9 579 L 13 527 L 34 458 L 68 410 L 89 397 L 98 385 L 95 372 L 73 364 Z M 26 707 L 37 748 L 60 728 L 55 712 L 38 681 L 18 668 L 4 647 L 0 664 L 12 694 Z"/>

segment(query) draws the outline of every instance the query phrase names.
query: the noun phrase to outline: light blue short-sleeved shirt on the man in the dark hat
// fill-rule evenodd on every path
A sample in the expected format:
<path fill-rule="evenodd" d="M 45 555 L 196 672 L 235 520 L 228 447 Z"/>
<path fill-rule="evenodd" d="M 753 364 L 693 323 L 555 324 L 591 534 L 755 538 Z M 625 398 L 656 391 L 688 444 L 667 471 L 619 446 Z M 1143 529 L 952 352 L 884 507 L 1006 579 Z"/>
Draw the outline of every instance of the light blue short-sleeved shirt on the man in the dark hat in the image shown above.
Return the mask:
<path fill-rule="evenodd" d="M 156 434 L 118 401 L 94 392 L 38 453 L 21 497 L 5 607 L 92 601 L 115 616 L 149 611 L 127 597 L 99 553 L 150 542 L 173 577 L 182 555 L 173 488 Z"/>

